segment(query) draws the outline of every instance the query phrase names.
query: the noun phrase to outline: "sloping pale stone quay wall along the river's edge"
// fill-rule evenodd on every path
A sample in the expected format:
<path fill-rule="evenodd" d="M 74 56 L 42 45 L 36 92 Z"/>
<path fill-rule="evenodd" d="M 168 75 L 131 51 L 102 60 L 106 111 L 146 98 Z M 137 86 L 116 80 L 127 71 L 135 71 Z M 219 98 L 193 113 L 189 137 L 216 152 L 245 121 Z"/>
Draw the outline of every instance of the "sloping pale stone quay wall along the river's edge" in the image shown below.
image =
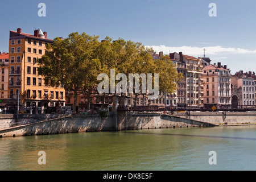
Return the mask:
<path fill-rule="evenodd" d="M 0 116 L 0 123 L 8 126 L 9 123 L 16 122 L 15 118 Z M 32 117 L 32 116 L 31 116 Z M 34 118 L 33 118 L 34 117 Z M 32 118 L 36 121 L 36 117 Z M 0 137 L 16 137 L 28 135 L 46 135 L 60 133 L 76 133 L 86 131 L 117 131 L 117 130 L 137 130 L 137 129 L 159 129 L 177 127 L 207 127 L 224 126 L 238 124 L 256 124 L 256 113 L 176 113 L 174 115 L 163 113 L 137 113 L 119 112 L 101 118 L 96 115 L 79 115 L 55 118 L 39 118 L 38 122 L 26 123 L 21 126 L 10 126 L 0 128 Z M 45 119 L 47 118 L 47 119 Z M 9 119 L 9 120 L 8 120 Z M 19 117 L 19 122 L 28 118 Z"/>

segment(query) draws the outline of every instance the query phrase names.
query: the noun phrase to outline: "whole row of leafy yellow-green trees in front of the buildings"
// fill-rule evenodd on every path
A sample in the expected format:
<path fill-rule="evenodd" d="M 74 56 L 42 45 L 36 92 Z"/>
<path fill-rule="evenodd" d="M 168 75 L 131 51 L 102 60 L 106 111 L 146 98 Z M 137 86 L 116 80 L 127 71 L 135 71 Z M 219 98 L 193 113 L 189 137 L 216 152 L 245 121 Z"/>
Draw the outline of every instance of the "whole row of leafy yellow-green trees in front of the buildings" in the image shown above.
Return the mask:
<path fill-rule="evenodd" d="M 173 93 L 181 75 L 170 59 L 162 56 L 154 60 L 152 52 L 152 48 L 131 40 L 119 38 L 113 41 L 107 36 L 100 41 L 99 36 L 73 32 L 68 38 L 55 38 L 53 44 L 47 46 L 45 55 L 38 60 L 38 72 L 44 76 L 46 84 L 63 84 L 65 90 L 73 94 L 74 110 L 81 93 L 88 96 L 89 109 L 90 94 L 97 92 L 97 85 L 101 82 L 97 80 L 98 75 L 106 73 L 110 77 L 110 69 L 115 70 L 115 76 L 123 73 L 127 78 L 129 73 L 152 73 L 153 78 L 154 73 L 159 73 L 159 92 Z"/>

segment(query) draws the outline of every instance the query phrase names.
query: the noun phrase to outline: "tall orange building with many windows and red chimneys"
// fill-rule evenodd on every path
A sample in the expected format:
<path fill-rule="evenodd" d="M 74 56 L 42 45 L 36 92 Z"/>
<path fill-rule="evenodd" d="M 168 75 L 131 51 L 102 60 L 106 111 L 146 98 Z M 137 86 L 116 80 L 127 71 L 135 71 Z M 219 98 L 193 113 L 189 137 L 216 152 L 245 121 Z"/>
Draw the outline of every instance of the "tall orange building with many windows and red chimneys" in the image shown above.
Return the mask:
<path fill-rule="evenodd" d="M 52 43 L 53 40 L 47 39 L 47 32 L 40 28 L 34 35 L 23 33 L 21 28 L 10 31 L 9 110 L 16 111 L 18 98 L 19 110 L 27 113 L 48 113 L 49 107 L 65 105 L 63 86 L 45 85 L 37 71 L 36 60 L 44 55 L 47 44 Z"/>

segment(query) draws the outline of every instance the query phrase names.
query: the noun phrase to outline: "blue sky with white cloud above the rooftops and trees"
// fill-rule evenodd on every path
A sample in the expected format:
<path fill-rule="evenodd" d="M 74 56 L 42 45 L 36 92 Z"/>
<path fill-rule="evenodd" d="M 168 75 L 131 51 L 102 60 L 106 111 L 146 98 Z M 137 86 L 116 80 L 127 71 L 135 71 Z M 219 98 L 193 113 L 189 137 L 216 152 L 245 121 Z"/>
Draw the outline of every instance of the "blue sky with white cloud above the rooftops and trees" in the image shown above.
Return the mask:
<path fill-rule="evenodd" d="M 228 65 L 232 74 L 256 72 L 255 0 L 26 0 L 1 1 L 0 51 L 9 50 L 9 31 L 18 27 L 47 38 L 71 32 L 141 42 L 157 53 L 183 52 Z M 46 16 L 38 16 L 39 3 Z M 216 4 L 216 15 L 210 3 Z"/>

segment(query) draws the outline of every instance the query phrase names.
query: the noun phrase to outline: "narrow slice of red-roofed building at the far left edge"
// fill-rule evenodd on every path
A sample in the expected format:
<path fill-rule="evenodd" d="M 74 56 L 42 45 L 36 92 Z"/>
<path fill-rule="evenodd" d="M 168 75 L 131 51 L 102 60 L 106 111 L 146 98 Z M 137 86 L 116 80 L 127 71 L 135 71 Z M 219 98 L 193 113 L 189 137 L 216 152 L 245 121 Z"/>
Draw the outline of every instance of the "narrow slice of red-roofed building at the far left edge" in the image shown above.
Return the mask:
<path fill-rule="evenodd" d="M 1 78 L 0 78 L 0 108 L 4 109 L 7 104 L 7 98 L 8 98 L 8 75 L 9 75 L 9 53 L 2 53 L 0 52 L 0 72 L 1 72 Z"/>

